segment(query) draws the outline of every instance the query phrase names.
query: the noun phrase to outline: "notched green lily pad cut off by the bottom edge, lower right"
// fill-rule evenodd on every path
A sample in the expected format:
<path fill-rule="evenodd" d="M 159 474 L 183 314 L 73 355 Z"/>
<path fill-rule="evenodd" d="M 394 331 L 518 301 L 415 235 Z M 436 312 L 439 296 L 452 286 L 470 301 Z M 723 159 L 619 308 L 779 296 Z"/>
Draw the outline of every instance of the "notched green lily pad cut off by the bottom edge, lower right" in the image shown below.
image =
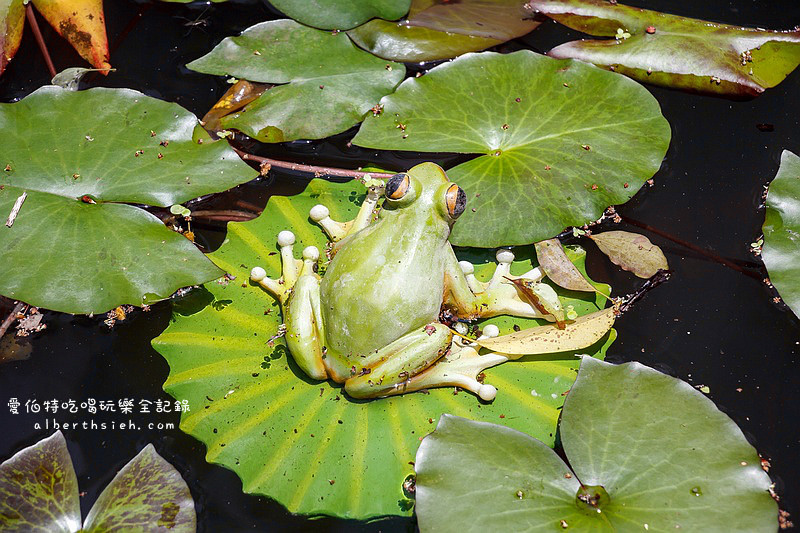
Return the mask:
<path fill-rule="evenodd" d="M 560 433 L 571 469 L 528 435 L 443 416 L 416 457 L 420 530 L 777 529 L 758 454 L 683 381 L 585 357 Z"/>

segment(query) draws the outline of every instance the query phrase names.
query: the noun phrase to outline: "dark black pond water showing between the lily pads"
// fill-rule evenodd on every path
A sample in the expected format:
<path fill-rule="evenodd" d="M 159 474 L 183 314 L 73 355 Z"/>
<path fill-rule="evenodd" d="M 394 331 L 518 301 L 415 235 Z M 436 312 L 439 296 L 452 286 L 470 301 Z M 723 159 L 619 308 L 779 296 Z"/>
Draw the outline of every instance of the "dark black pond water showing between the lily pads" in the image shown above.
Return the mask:
<path fill-rule="evenodd" d="M 788 29 L 800 24 L 796 0 L 630 3 L 748 26 Z M 118 70 L 92 83 L 138 89 L 202 115 L 228 86 L 224 80 L 190 72 L 183 65 L 224 36 L 274 17 L 271 8 L 258 1 L 213 6 L 106 2 L 109 39 L 114 47 L 111 59 Z M 83 64 L 54 32 L 44 26 L 43 31 L 57 69 Z M 574 32 L 546 23 L 504 49 L 546 51 L 576 37 Z M 48 80 L 37 45 L 26 30 L 19 54 L 0 77 L 0 101 L 21 98 Z M 672 125 L 672 144 L 654 186 L 645 187 L 619 209 L 630 221 L 620 229 L 643 231 L 634 223 L 653 228 L 643 232 L 663 248 L 674 275 L 618 321 L 619 339 L 608 358 L 615 362 L 638 360 L 710 387 L 709 396 L 770 459 L 770 475 L 783 496 L 782 507 L 797 514 L 800 321 L 784 306 L 773 303 L 774 294 L 761 281 L 763 267 L 749 252 L 749 243 L 761 233 L 761 194 L 775 175 L 781 150 L 800 153 L 800 72 L 749 102 L 649 89 Z M 773 124 L 774 131 L 760 131 L 756 124 L 763 123 Z M 342 136 L 329 143 L 266 147 L 260 153 L 350 168 L 380 161 L 401 169 L 420 160 L 348 149 L 346 141 Z M 451 163 L 446 158 L 436 160 Z M 238 198 L 263 205 L 270 191 L 291 186 L 289 178 L 276 172 L 275 188 L 270 189 L 267 182 L 248 184 L 221 198 L 218 205 L 233 205 Z M 220 228 L 212 227 L 202 238 L 213 245 L 221 235 Z M 680 242 L 723 257 L 737 268 L 724 266 Z M 617 293 L 639 285 L 633 276 L 610 265 L 593 245 L 584 244 L 589 249 L 593 278 L 610 283 Z M 156 305 L 149 313 L 134 313 L 109 330 L 97 318 L 48 313 L 48 328 L 33 337 L 30 358 L 0 365 L 0 459 L 51 433 L 34 428 L 35 423 L 44 422 L 42 413 L 10 415 L 8 398 L 23 402 L 52 398 L 78 402 L 87 398 L 168 400 L 161 390 L 167 365 L 150 347 L 150 339 L 166 327 L 169 317 L 167 304 Z M 99 414 L 96 422 L 110 427 L 112 422 L 127 419 L 120 413 L 105 415 Z M 85 418 L 72 416 L 74 420 Z M 139 416 L 134 422 L 140 427 L 154 423 L 177 428 L 174 413 Z M 65 416 L 64 420 L 71 418 Z M 243 494 L 236 475 L 207 464 L 204 447 L 178 429 L 70 430 L 66 437 L 85 491 L 84 513 L 116 470 L 145 443 L 153 442 L 189 483 L 201 531 L 414 528 L 411 519 L 360 524 L 332 518 L 310 522 L 307 517 L 293 516 L 266 498 Z"/>

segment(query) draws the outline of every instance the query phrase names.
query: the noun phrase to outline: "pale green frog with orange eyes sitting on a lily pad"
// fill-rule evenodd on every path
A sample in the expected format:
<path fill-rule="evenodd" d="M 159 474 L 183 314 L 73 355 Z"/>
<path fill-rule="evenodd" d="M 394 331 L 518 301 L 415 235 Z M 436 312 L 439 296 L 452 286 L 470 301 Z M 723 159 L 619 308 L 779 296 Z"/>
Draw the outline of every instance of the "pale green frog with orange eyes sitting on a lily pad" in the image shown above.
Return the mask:
<path fill-rule="evenodd" d="M 458 261 L 448 239 L 466 200 L 441 167 L 423 163 L 369 187 L 352 221 L 336 222 L 325 206 L 313 207 L 310 218 L 333 243 L 322 278 L 319 250 L 309 246 L 297 260 L 294 234 L 278 234 L 282 277 L 270 279 L 255 267 L 250 278 L 279 300 L 287 346 L 309 377 L 344 383 L 353 398 L 444 386 L 495 398 L 497 389 L 479 376 L 515 356 L 479 355 L 440 322 L 440 313 L 463 320 L 554 318 L 520 297 L 512 281 L 536 282 L 543 274 L 534 268 L 512 276 L 510 250 L 498 250 L 488 283 L 475 277 L 472 264 Z M 497 335 L 497 328 L 484 328 L 484 335 Z"/>

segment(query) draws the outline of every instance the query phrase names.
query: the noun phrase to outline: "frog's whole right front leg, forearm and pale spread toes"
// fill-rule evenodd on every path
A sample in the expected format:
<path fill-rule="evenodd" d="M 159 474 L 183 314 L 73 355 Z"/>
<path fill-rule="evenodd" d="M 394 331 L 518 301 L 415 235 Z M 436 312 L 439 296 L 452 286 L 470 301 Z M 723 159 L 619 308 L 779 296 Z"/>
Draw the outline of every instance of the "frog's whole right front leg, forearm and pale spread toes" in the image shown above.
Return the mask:
<path fill-rule="evenodd" d="M 458 261 L 450 250 L 445 267 L 445 306 L 453 309 L 460 318 L 475 319 L 497 315 L 555 320 L 544 315 L 530 302 L 520 298 L 512 279 L 540 281 L 544 274 L 537 267 L 522 274 L 511 275 L 514 253 L 497 250 L 497 267 L 492 279 L 484 283 L 475 277 L 475 267 L 468 261 Z"/>

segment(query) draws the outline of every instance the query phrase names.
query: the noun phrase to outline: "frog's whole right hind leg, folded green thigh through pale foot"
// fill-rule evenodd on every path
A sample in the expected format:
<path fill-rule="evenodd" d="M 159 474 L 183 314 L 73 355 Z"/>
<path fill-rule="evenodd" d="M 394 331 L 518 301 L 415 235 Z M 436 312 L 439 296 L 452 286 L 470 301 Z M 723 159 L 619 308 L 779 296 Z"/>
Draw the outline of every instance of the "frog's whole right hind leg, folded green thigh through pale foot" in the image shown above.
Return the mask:
<path fill-rule="evenodd" d="M 497 331 L 491 333 L 497 335 Z M 507 360 L 494 353 L 478 355 L 474 347 L 454 340 L 447 326 L 433 322 L 366 357 L 361 368 L 353 367 L 345 391 L 353 398 L 379 398 L 434 387 L 461 387 L 491 401 L 497 389 L 479 382 L 478 375 Z"/>

